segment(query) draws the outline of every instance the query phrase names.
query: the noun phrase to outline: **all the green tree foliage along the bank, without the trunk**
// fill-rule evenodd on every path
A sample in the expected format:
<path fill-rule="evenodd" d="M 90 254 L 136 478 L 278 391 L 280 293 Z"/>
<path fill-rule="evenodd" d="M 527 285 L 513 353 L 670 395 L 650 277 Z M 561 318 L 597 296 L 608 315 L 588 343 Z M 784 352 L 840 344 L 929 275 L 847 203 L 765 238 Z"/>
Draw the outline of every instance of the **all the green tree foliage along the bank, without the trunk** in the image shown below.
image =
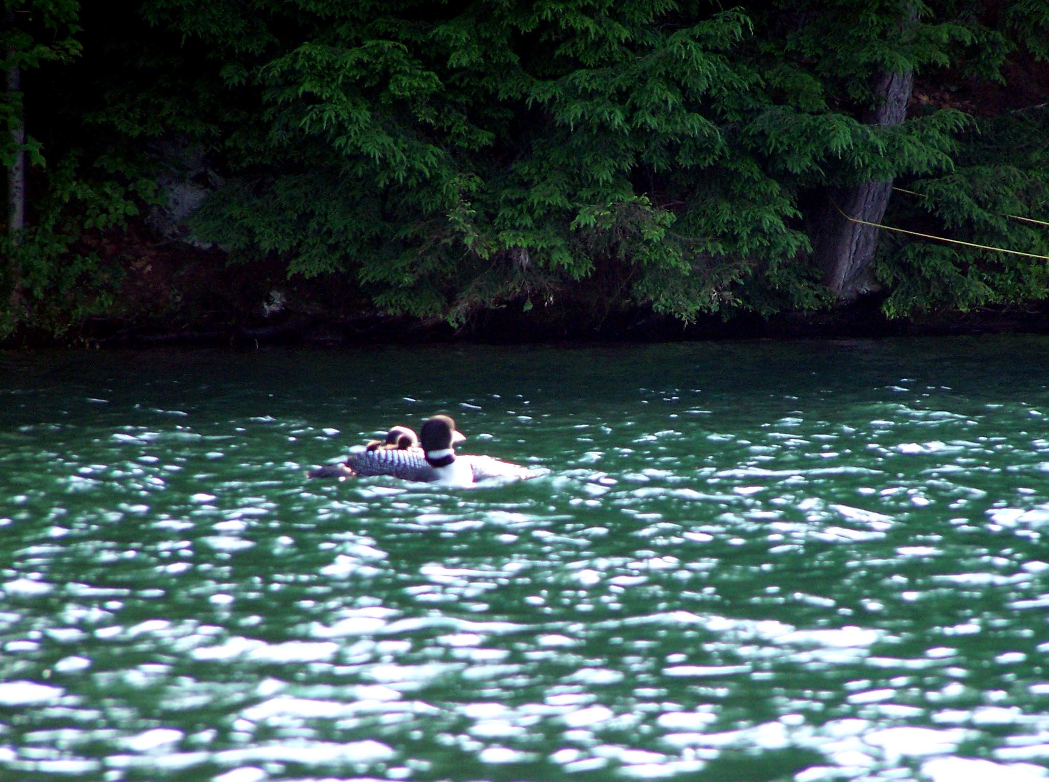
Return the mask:
<path fill-rule="evenodd" d="M 221 174 L 186 228 L 231 261 L 279 258 L 292 276 L 351 279 L 379 310 L 456 324 L 483 308 L 606 294 L 609 307 L 684 320 L 827 307 L 810 259 L 812 205 L 870 181 L 911 182 L 926 196 L 894 197 L 886 221 L 1034 252 L 1041 234 L 1000 213 L 1044 207 L 1044 149 L 1024 153 L 1016 140 L 1045 128 L 1022 127 L 1026 115 L 978 127 L 930 105 L 893 126 L 872 117 L 878 75 L 1001 81 L 1010 58 L 1046 57 L 1042 6 L 85 7 L 98 16 L 84 17 L 84 67 L 64 79 L 47 70 L 56 130 L 29 145 L 38 166 L 53 150 L 79 173 L 36 174 L 51 200 L 34 214 L 42 249 L 22 261 L 24 284 L 55 296 L 72 279 L 102 280 L 87 260 L 59 274 L 60 258 L 133 219 L 128 205 L 145 213 L 162 200 L 136 183 L 163 181 L 186 149 Z M 77 19 L 63 29 L 76 33 Z M 5 105 L 22 110 L 17 98 Z M 60 202 L 65 211 L 43 206 Z M 876 274 L 893 315 L 1045 295 L 1036 263 L 1020 256 L 898 235 L 882 248 Z"/>

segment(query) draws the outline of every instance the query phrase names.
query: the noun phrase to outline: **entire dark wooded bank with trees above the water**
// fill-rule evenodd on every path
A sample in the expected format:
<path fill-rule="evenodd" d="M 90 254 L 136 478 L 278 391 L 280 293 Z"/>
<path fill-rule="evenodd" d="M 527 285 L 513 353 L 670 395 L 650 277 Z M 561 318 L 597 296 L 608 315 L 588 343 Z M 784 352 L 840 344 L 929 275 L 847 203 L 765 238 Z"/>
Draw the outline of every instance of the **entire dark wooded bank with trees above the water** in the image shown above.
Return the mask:
<path fill-rule="evenodd" d="M 7 0 L 0 44 L 7 343 L 1049 299 L 1045 0 Z"/>

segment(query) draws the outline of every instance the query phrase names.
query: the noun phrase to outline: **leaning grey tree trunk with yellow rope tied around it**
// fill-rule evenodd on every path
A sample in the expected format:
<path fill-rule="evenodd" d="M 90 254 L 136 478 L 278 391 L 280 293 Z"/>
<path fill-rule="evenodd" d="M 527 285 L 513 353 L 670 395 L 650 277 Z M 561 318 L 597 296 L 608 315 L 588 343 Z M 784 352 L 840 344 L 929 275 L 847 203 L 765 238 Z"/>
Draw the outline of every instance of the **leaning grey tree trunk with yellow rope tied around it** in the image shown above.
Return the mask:
<path fill-rule="evenodd" d="M 882 73 L 876 88 L 880 104 L 863 118 L 864 122 L 868 125 L 901 124 L 913 87 L 914 71 L 909 68 L 902 73 Z M 853 220 L 881 223 L 892 189 L 893 181 L 887 179 L 837 188 L 828 193 L 817 229 L 815 255 L 823 269 L 827 286 L 840 298 L 855 298 L 866 287 L 868 270 L 878 245 L 879 229 Z"/>

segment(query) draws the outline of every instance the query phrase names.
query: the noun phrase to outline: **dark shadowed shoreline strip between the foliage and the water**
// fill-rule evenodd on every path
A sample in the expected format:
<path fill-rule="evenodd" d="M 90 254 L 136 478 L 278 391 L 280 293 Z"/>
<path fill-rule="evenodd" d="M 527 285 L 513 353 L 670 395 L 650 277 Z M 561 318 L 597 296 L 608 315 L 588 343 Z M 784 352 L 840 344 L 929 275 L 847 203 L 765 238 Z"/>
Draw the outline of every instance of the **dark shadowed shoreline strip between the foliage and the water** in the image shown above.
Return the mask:
<path fill-rule="evenodd" d="M 984 334 L 1049 334 L 1049 305 L 1036 309 L 999 308 L 970 312 L 932 313 L 890 320 L 875 297 L 812 313 L 780 313 L 768 319 L 744 313 L 724 319 L 704 316 L 685 324 L 645 308 L 614 313 L 600 324 L 572 320 L 563 311 L 550 315 L 501 310 L 483 311 L 461 329 L 446 321 L 425 321 L 376 313 L 357 317 L 314 312 L 274 318 L 233 313 L 232 322 L 192 322 L 164 318 L 128 322 L 95 316 L 76 334 L 53 337 L 22 330 L 0 340 L 0 350 L 52 347 L 149 348 L 230 347 L 254 350 L 263 345 L 351 347 L 414 344 L 631 344 L 725 340 L 885 339 L 892 337 L 949 337 Z"/>

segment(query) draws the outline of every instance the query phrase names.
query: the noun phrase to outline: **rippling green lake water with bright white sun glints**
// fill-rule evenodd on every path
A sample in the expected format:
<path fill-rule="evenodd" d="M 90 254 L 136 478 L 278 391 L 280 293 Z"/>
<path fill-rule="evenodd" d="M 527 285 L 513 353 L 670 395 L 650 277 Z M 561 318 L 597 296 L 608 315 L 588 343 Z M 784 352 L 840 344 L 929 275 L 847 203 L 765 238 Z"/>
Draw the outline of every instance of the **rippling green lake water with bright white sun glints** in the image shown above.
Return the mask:
<path fill-rule="evenodd" d="M 1045 779 L 1046 366 L 0 355 L 0 779 Z M 549 473 L 303 480 L 437 410 Z"/>

